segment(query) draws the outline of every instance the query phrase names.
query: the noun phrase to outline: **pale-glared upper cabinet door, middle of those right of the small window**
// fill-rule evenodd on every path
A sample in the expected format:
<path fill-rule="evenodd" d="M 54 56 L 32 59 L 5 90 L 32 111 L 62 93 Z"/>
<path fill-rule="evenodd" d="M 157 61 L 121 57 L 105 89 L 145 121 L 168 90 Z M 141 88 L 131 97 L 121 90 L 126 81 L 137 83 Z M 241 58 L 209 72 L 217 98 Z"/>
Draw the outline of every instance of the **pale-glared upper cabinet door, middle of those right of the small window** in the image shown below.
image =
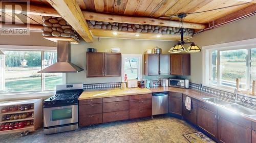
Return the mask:
<path fill-rule="evenodd" d="M 170 74 L 170 54 L 159 54 L 159 74 Z"/>

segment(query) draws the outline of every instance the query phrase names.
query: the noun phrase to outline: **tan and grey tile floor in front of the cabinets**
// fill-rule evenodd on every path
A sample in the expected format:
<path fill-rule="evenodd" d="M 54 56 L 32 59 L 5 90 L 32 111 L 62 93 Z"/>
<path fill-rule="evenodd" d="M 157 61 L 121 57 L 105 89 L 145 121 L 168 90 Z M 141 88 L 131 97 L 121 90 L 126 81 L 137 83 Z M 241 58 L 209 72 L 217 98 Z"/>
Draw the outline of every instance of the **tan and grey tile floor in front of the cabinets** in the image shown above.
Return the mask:
<path fill-rule="evenodd" d="M 20 137 L 18 133 L 0 135 L 0 142 L 188 142 L 183 134 L 197 130 L 185 121 L 160 116 L 129 121 L 105 123 L 51 135 L 44 135 L 42 130 Z"/>

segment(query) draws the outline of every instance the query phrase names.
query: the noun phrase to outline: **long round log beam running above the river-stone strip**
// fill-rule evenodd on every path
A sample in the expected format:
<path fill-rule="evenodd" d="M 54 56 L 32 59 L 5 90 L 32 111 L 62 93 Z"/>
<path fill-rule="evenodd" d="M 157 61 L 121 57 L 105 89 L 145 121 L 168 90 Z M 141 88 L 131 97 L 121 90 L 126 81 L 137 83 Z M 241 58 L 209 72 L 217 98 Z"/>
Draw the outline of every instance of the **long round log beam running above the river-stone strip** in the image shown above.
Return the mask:
<path fill-rule="evenodd" d="M 95 13 L 95 12 L 88 12 L 88 11 L 83 11 L 82 13 L 84 17 L 88 20 L 180 27 L 180 21 L 156 19 L 156 18 L 150 18 L 150 17 L 121 16 L 121 15 L 103 14 L 103 13 Z M 193 29 L 204 29 L 206 25 L 184 22 L 183 27 L 193 28 Z"/>

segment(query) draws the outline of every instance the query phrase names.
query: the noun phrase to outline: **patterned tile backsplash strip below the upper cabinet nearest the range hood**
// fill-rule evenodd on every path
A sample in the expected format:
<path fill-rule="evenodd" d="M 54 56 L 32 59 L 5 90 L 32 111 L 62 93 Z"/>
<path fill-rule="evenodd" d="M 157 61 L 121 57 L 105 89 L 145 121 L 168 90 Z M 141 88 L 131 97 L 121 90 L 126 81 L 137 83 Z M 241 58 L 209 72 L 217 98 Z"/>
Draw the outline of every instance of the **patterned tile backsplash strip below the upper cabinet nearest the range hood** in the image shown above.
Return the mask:
<path fill-rule="evenodd" d="M 101 89 L 112 89 L 112 88 L 120 88 L 120 87 L 121 87 L 121 82 L 83 84 L 84 90 L 101 90 Z"/>

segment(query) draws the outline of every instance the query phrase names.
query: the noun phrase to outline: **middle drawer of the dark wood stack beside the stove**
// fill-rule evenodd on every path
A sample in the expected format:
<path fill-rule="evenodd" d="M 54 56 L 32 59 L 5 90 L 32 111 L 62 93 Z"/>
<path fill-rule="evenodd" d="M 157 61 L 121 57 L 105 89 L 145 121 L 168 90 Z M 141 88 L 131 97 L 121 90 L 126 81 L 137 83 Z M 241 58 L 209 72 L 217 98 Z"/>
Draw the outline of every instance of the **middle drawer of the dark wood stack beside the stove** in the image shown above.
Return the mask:
<path fill-rule="evenodd" d="M 102 103 L 79 105 L 79 115 L 102 113 Z"/>

